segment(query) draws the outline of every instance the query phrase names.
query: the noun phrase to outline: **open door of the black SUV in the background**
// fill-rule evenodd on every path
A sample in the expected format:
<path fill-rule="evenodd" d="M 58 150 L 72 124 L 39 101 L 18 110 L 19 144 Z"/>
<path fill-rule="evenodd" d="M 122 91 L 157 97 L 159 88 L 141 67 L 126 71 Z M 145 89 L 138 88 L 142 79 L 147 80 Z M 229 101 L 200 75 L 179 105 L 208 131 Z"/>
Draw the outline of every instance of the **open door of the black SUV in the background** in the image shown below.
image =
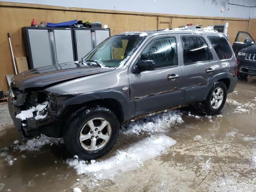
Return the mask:
<path fill-rule="evenodd" d="M 235 55 L 237 55 L 241 49 L 252 46 L 254 44 L 255 44 L 255 41 L 252 38 L 252 36 L 250 36 L 249 33 L 239 31 L 238 34 L 236 35 L 236 40 L 233 43 L 232 48 L 235 52 Z"/>

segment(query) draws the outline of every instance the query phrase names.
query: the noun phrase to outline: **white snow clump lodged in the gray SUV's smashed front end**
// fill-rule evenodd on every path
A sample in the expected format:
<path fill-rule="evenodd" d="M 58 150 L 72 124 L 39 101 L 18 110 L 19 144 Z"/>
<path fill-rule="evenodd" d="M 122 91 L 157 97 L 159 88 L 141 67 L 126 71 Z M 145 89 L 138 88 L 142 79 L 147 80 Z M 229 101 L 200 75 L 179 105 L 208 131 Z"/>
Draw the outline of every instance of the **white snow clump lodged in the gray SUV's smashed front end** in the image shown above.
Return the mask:
<path fill-rule="evenodd" d="M 36 111 L 36 116 L 35 119 L 43 119 L 46 118 L 47 114 L 45 115 L 40 115 L 39 113 L 44 110 L 44 108 L 46 108 L 48 106 L 49 102 L 45 101 L 42 104 L 38 104 L 36 107 L 32 107 L 31 109 L 28 110 L 24 110 L 21 111 L 19 114 L 16 115 L 16 118 L 20 119 L 20 120 L 26 120 L 26 118 L 31 118 L 33 117 L 33 112 Z"/>

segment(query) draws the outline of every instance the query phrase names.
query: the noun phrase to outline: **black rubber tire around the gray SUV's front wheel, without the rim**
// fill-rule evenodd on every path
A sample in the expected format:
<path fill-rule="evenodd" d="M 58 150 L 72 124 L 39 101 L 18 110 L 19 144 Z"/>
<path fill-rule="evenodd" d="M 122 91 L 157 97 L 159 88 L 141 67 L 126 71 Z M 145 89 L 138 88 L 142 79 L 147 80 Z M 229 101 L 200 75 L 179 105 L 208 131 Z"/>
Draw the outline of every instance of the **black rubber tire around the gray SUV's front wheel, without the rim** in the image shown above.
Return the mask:
<path fill-rule="evenodd" d="M 105 146 L 98 150 L 89 151 L 85 150 L 80 144 L 80 132 L 83 126 L 93 118 L 104 118 L 106 119 L 111 126 L 111 135 L 110 139 Z M 118 118 L 108 108 L 105 107 L 91 107 L 91 108 L 82 108 L 75 112 L 70 120 L 68 120 L 67 126 L 64 130 L 63 138 L 64 143 L 68 151 L 73 155 L 77 155 L 80 159 L 83 160 L 92 160 L 99 158 L 106 154 L 116 143 L 118 138 L 118 133 L 120 129 L 120 122 Z"/>

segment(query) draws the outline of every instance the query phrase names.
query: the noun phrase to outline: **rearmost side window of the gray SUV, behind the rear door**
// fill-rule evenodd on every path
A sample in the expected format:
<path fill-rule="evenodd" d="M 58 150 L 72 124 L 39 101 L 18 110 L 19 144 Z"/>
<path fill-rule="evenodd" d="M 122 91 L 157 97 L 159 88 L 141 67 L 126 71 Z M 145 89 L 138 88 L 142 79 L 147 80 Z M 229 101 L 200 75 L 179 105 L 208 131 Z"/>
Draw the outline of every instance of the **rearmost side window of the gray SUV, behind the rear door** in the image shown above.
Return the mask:
<path fill-rule="evenodd" d="M 232 50 L 224 37 L 208 36 L 207 38 L 211 42 L 220 60 L 230 59 L 232 57 Z"/>

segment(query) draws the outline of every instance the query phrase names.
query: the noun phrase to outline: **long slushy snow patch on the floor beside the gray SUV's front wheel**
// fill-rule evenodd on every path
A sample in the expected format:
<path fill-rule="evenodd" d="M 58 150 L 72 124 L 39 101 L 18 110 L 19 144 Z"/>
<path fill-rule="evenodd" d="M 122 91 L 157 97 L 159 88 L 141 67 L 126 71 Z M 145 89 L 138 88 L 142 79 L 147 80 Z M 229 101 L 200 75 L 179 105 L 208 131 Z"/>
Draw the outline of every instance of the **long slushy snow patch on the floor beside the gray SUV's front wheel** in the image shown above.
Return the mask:
<path fill-rule="evenodd" d="M 78 174 L 92 174 L 96 179 L 113 179 L 120 171 L 128 171 L 143 166 L 146 160 L 160 156 L 166 148 L 176 144 L 176 140 L 166 135 L 153 135 L 133 144 L 125 150 L 118 150 L 116 155 L 107 160 L 87 163 L 77 158 L 67 160 Z"/>

